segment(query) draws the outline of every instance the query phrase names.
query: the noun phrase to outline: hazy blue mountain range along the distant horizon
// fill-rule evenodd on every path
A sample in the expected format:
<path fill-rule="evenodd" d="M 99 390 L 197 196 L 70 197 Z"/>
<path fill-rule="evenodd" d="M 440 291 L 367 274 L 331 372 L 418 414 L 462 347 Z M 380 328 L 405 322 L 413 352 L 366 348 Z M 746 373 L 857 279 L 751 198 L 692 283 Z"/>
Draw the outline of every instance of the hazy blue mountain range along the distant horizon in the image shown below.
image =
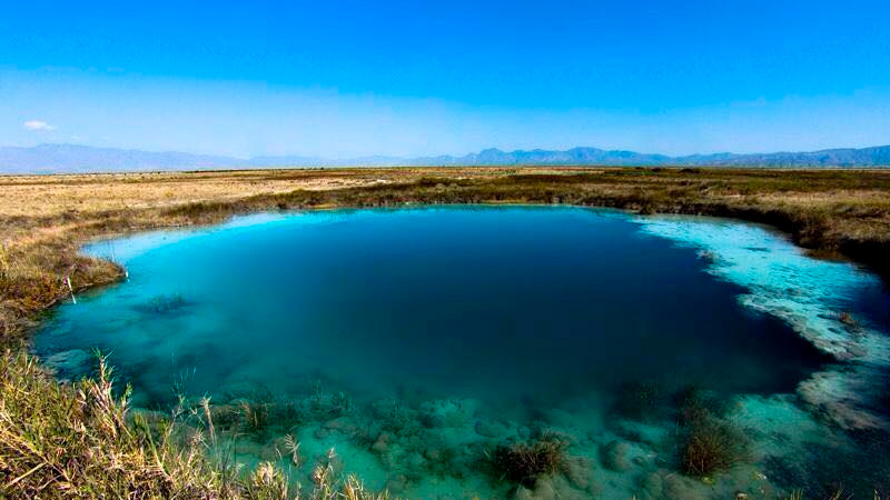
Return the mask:
<path fill-rule="evenodd" d="M 0 148 L 0 173 L 82 173 L 149 170 L 218 170 L 275 167 L 433 167 L 433 166 L 694 166 L 694 167 L 888 167 L 890 146 L 863 149 L 827 149 L 811 152 L 758 154 L 692 154 L 670 157 L 633 151 L 573 148 L 565 151 L 486 149 L 462 157 L 363 157 L 329 160 L 314 157 L 255 157 L 250 159 L 92 148 L 76 144 L 40 144 Z"/>

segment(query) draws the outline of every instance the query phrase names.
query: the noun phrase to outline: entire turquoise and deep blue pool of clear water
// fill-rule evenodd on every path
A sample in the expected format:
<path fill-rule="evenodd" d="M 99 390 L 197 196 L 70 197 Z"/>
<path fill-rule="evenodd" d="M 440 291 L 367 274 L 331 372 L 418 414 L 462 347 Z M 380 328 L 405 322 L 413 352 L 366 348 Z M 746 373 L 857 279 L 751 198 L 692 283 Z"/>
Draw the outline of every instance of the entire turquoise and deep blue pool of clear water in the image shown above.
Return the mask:
<path fill-rule="evenodd" d="M 485 451 L 546 429 L 568 437 L 574 461 L 533 488 L 542 498 L 815 489 L 805 470 L 758 474 L 812 443 L 856 448 L 837 421 L 883 418 L 873 398 L 838 409 L 824 397 L 843 373 L 882 376 L 881 283 L 759 227 L 576 208 L 339 210 L 87 251 L 125 264 L 127 281 L 57 308 L 34 351 L 61 378 L 88 373 L 83 351 L 110 352 L 142 408 L 206 393 L 237 417 L 260 401 L 255 436 L 233 423 L 237 456 L 277 459 L 291 433 L 304 483 L 335 447 L 374 488 L 500 497 L 513 487 L 479 466 Z M 739 422 L 775 427 L 715 484 L 671 479 L 670 394 L 689 386 L 732 401 Z M 651 414 L 626 411 L 641 388 L 656 394 Z M 626 469 L 603 459 L 616 440 Z"/>

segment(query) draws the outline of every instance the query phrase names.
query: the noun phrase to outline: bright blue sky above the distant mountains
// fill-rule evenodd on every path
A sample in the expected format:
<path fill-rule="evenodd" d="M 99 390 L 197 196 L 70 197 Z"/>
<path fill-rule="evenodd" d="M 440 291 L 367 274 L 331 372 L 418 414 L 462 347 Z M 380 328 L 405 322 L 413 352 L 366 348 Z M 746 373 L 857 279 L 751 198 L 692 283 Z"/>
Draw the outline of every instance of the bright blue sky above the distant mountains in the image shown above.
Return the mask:
<path fill-rule="evenodd" d="M 890 143 L 890 3 L 4 1 L 0 144 L 231 156 Z"/>

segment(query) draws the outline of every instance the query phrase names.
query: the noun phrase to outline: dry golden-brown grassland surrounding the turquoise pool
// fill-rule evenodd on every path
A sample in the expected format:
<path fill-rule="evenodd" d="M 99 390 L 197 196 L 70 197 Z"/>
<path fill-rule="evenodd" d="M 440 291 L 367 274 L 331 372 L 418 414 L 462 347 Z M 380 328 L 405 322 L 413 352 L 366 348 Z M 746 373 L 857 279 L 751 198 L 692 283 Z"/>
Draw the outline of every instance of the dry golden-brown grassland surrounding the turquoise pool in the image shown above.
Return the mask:
<path fill-rule="evenodd" d="M 275 470 L 235 482 L 177 448 L 182 442 L 174 439 L 169 422 L 160 433 L 125 424 L 126 401 L 111 396 L 107 379 L 61 387 L 21 353 L 40 311 L 71 289 L 121 276 L 110 262 L 78 254 L 88 240 L 260 210 L 513 202 L 769 223 L 817 256 L 860 262 L 890 282 L 890 169 L 526 167 L 0 177 L 0 341 L 6 349 L 0 497 L 279 498 L 275 492 L 283 479 Z M 194 409 L 194 418 L 200 414 Z M 198 441 L 192 441 L 185 450 L 195 450 Z M 347 494 L 348 488 L 347 498 L 365 498 L 356 493 L 357 483 L 319 488 L 327 488 L 329 498 Z"/>

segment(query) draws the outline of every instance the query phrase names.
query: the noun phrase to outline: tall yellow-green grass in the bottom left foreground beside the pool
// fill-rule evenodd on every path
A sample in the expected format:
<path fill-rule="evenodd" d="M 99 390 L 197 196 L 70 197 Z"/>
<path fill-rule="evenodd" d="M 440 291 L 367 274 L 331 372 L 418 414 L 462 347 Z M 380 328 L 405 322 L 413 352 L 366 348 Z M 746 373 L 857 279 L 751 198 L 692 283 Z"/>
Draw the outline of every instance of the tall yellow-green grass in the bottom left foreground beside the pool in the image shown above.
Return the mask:
<path fill-rule="evenodd" d="M 101 356 L 95 379 L 60 384 L 29 354 L 0 354 L 0 498 L 386 498 L 333 473 L 301 496 L 273 463 L 239 474 L 209 458 L 209 399 L 162 417 L 131 411 L 129 389 L 116 392 Z"/>

